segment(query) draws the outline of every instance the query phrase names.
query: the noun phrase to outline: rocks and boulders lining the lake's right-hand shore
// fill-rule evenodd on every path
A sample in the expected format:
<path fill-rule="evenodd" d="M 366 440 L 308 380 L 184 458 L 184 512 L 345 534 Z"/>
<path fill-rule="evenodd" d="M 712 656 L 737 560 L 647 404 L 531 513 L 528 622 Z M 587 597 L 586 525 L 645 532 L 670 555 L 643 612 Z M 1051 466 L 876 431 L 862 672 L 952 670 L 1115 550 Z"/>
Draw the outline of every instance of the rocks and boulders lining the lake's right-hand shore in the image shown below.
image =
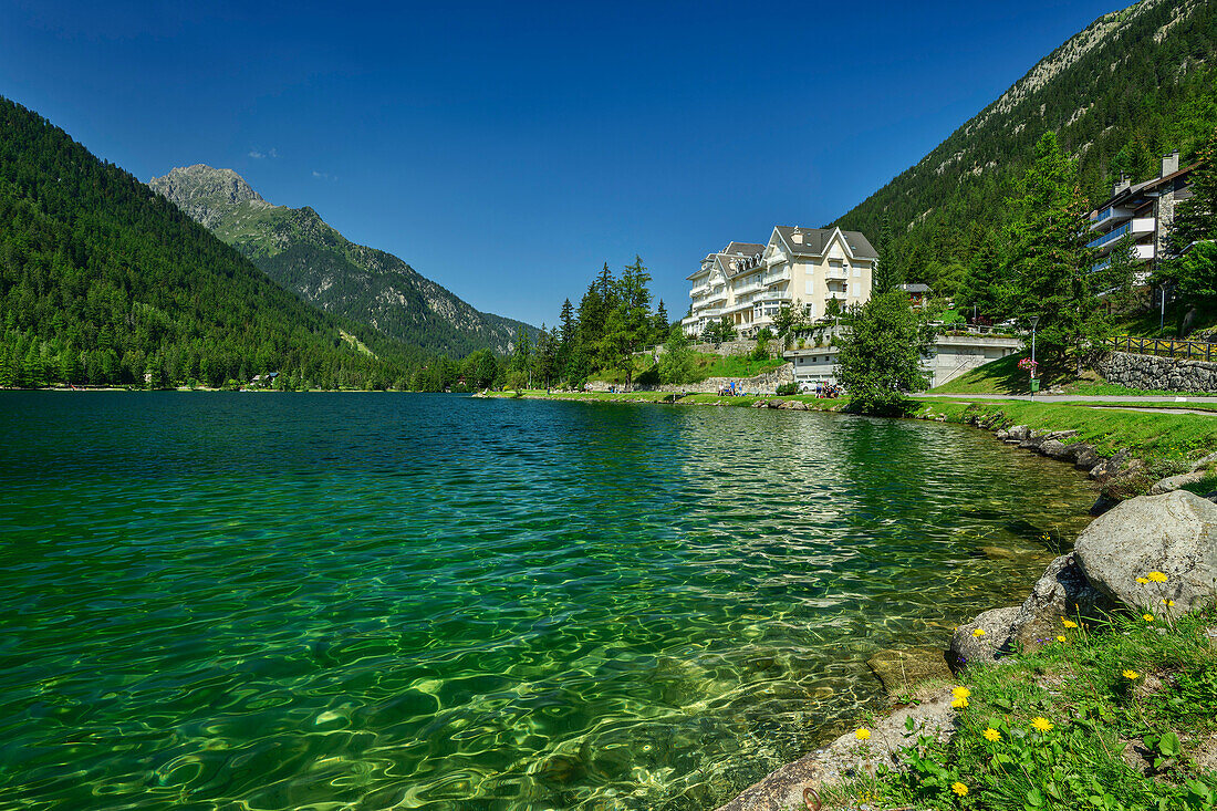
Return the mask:
<path fill-rule="evenodd" d="M 797 401 L 787 403 L 758 401 L 753 407 L 807 408 Z M 946 421 L 946 415 L 932 412 L 918 416 Z M 1177 617 L 1217 600 L 1217 504 L 1213 503 L 1217 494 L 1202 498 L 1180 490 L 1201 481 L 1217 463 L 1217 454 L 1198 460 L 1187 474 L 1154 482 L 1149 494 L 1123 499 L 1114 493 L 1145 485 L 1145 464 L 1126 449 L 1104 458 L 1089 443 L 1064 441 L 1077 431 L 1009 426 L 1000 412 L 975 415 L 966 424 L 992 431 L 1006 444 L 1071 463 L 1086 470 L 1104 491 L 1092 508 L 1098 518 L 1082 531 L 1072 552 L 1048 565 L 1021 604 L 983 611 L 954 631 L 944 651 L 950 672 L 965 666 L 997 665 L 1020 651 L 1036 650 L 1055 639 L 1062 617 L 1083 622 L 1105 611 L 1145 610 L 1150 595 L 1140 589 L 1138 577 L 1148 571 L 1161 571 L 1168 578 L 1170 586 L 1152 594 L 1152 599 L 1162 600 L 1159 608 L 1167 616 Z M 874 665 L 873 669 L 876 676 L 882 676 Z M 854 733 L 842 734 L 769 773 L 717 811 L 817 809 L 821 787 L 863 773 L 874 774 L 880 765 L 898 768 L 893 753 L 918 736 L 948 739 L 955 732 L 952 689 L 933 679 L 940 670 L 930 665 L 912 672 L 905 693 L 918 671 L 931 681 L 910 693 L 915 697 L 912 704 L 880 717 L 868 729 L 867 740 L 859 740 Z"/>

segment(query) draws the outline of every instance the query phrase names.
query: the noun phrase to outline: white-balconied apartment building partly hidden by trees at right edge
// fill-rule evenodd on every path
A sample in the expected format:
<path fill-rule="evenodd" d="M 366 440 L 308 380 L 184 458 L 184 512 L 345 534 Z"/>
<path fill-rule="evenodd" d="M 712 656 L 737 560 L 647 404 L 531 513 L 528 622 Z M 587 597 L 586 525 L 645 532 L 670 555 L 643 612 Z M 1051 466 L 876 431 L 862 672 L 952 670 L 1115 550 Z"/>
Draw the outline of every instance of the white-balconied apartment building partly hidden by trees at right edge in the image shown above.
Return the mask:
<path fill-rule="evenodd" d="M 1090 212 L 1090 247 L 1098 248 L 1095 269 L 1110 262 L 1111 250 L 1126 234 L 1132 234 L 1133 251 L 1140 269 L 1137 284 L 1145 284 L 1154 263 L 1162 256 L 1166 236 L 1174 220 L 1174 206 L 1191 196 L 1189 178 L 1196 164 L 1179 168 L 1179 152 L 1162 158 L 1162 168 L 1152 180 L 1133 185 L 1121 178 L 1111 197 Z"/>

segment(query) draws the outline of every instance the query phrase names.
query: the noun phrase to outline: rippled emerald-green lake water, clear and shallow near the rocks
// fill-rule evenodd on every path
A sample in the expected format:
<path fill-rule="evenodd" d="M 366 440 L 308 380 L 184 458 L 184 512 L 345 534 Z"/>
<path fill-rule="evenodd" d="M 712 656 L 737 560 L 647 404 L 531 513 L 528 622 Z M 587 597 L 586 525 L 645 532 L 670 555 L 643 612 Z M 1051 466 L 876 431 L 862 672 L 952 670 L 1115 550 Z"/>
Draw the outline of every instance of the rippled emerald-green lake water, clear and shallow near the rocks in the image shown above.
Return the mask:
<path fill-rule="evenodd" d="M 937 424 L 54 392 L 0 493 L 0 809 L 319 811 L 712 807 L 1094 497 Z"/>

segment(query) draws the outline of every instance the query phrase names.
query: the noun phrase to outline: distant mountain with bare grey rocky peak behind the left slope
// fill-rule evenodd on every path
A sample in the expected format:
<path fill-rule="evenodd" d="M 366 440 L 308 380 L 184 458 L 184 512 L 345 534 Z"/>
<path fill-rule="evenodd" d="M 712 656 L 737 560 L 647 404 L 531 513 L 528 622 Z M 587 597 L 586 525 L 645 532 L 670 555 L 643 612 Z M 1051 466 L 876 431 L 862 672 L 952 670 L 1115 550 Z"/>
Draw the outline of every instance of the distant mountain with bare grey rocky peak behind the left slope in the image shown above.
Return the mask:
<path fill-rule="evenodd" d="M 231 169 L 175 168 L 150 184 L 271 279 L 326 312 L 431 352 L 506 353 L 516 330 L 535 328 L 482 313 L 385 251 L 355 245 L 309 208 L 274 206 Z"/>

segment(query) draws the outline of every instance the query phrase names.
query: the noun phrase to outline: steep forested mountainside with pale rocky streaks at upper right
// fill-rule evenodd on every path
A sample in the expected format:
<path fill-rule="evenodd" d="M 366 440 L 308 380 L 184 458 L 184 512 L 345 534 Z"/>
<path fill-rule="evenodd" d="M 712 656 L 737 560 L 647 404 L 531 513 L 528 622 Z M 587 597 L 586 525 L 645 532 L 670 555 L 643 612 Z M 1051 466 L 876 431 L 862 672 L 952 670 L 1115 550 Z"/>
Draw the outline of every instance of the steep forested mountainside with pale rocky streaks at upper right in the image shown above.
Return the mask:
<path fill-rule="evenodd" d="M 949 82 L 949 77 L 943 78 Z M 1078 158 L 1092 205 L 1160 156 L 1190 162 L 1217 125 L 1217 4 L 1143 0 L 1100 17 L 976 117 L 835 224 L 880 240 L 908 281 L 952 295 L 964 267 L 1004 224 L 1006 198 L 1048 130 Z"/>

